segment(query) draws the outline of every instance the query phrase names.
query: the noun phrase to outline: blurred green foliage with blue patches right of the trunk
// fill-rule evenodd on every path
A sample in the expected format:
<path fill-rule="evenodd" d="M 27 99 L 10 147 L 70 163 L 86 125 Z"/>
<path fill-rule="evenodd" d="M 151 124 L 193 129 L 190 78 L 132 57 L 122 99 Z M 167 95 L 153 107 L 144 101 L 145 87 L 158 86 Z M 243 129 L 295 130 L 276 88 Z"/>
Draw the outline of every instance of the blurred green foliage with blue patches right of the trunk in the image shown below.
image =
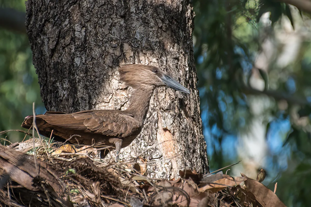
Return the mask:
<path fill-rule="evenodd" d="M 283 2 L 194 0 L 193 4 L 196 14 L 193 43 L 200 77 L 201 117 L 210 168 L 215 170 L 237 161 L 237 136 L 247 130 L 253 118 L 244 89 L 249 87 L 248 77 L 264 38 L 259 33 L 262 28 L 259 17 L 270 11 L 274 28 L 281 27 L 282 15 L 287 16 L 293 26 L 297 25 L 289 5 Z M 304 20 L 309 19 L 309 14 L 299 12 Z M 309 31 L 304 24 L 299 26 L 299 31 Z M 265 32 L 274 35 L 272 28 Z M 268 117 L 266 139 L 270 145 L 267 166 L 263 166 L 268 174 L 264 184 L 273 191 L 278 182 L 276 194 L 288 207 L 311 203 L 310 49 L 309 40 L 303 40 L 293 63 L 280 67 L 276 64 L 276 56 L 268 73 L 259 71 L 266 82 L 266 90 L 268 86 L 268 90 L 273 90 L 272 105 L 265 111 Z M 306 105 L 288 102 L 288 107 L 280 108 L 273 95 L 291 97 L 293 102 L 294 97 L 298 97 L 297 100 Z M 297 108 L 305 119 L 299 118 Z"/>

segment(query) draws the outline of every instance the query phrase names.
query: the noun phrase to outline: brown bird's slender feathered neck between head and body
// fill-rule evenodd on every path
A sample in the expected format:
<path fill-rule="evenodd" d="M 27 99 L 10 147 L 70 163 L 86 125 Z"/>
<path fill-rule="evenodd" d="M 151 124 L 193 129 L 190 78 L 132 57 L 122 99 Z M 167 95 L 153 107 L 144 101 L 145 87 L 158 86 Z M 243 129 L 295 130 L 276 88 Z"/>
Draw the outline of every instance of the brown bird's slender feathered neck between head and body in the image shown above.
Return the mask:
<path fill-rule="evenodd" d="M 154 87 L 149 86 L 144 89 L 137 89 L 132 94 L 132 101 L 130 106 L 125 110 L 134 114 L 135 118 L 143 125 L 148 108 L 151 95 Z"/>

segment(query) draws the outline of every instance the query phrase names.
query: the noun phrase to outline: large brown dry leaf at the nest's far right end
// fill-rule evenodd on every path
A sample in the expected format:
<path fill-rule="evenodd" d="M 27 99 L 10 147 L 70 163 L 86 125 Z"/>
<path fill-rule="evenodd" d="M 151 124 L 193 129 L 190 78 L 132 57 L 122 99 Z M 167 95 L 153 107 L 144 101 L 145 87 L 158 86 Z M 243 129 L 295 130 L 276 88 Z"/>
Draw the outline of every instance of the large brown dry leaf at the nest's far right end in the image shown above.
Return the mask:
<path fill-rule="evenodd" d="M 286 207 L 284 203 L 273 193 L 270 189 L 264 186 L 262 183 L 256 180 L 250 179 L 242 174 L 242 177 L 246 180 L 244 181 L 246 190 L 252 192 L 256 197 L 256 200 L 263 207 Z"/>

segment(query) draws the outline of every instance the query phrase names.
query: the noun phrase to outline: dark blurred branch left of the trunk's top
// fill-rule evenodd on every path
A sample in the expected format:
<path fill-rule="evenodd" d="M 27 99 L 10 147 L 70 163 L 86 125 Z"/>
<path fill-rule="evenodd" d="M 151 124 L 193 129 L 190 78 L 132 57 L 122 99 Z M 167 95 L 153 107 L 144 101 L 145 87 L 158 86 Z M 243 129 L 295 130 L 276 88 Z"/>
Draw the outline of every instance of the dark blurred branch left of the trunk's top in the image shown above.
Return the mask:
<path fill-rule="evenodd" d="M 26 14 L 11 8 L 0 8 L 0 27 L 26 34 Z"/>

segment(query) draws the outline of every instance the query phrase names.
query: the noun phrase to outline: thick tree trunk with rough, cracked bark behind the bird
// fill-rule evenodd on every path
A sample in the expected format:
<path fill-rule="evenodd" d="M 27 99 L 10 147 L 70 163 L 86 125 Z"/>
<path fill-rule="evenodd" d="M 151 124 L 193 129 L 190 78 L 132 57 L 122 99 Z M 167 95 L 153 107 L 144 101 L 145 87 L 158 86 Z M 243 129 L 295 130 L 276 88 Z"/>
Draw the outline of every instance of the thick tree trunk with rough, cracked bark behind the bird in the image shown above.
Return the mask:
<path fill-rule="evenodd" d="M 147 173 L 161 178 L 184 168 L 206 173 L 193 17 L 191 0 L 28 0 L 26 27 L 45 107 L 67 113 L 124 110 L 132 89 L 118 82 L 118 67 L 157 66 L 191 94 L 156 89 L 141 134 L 120 158 L 173 140 L 144 154 L 155 161 Z"/>

